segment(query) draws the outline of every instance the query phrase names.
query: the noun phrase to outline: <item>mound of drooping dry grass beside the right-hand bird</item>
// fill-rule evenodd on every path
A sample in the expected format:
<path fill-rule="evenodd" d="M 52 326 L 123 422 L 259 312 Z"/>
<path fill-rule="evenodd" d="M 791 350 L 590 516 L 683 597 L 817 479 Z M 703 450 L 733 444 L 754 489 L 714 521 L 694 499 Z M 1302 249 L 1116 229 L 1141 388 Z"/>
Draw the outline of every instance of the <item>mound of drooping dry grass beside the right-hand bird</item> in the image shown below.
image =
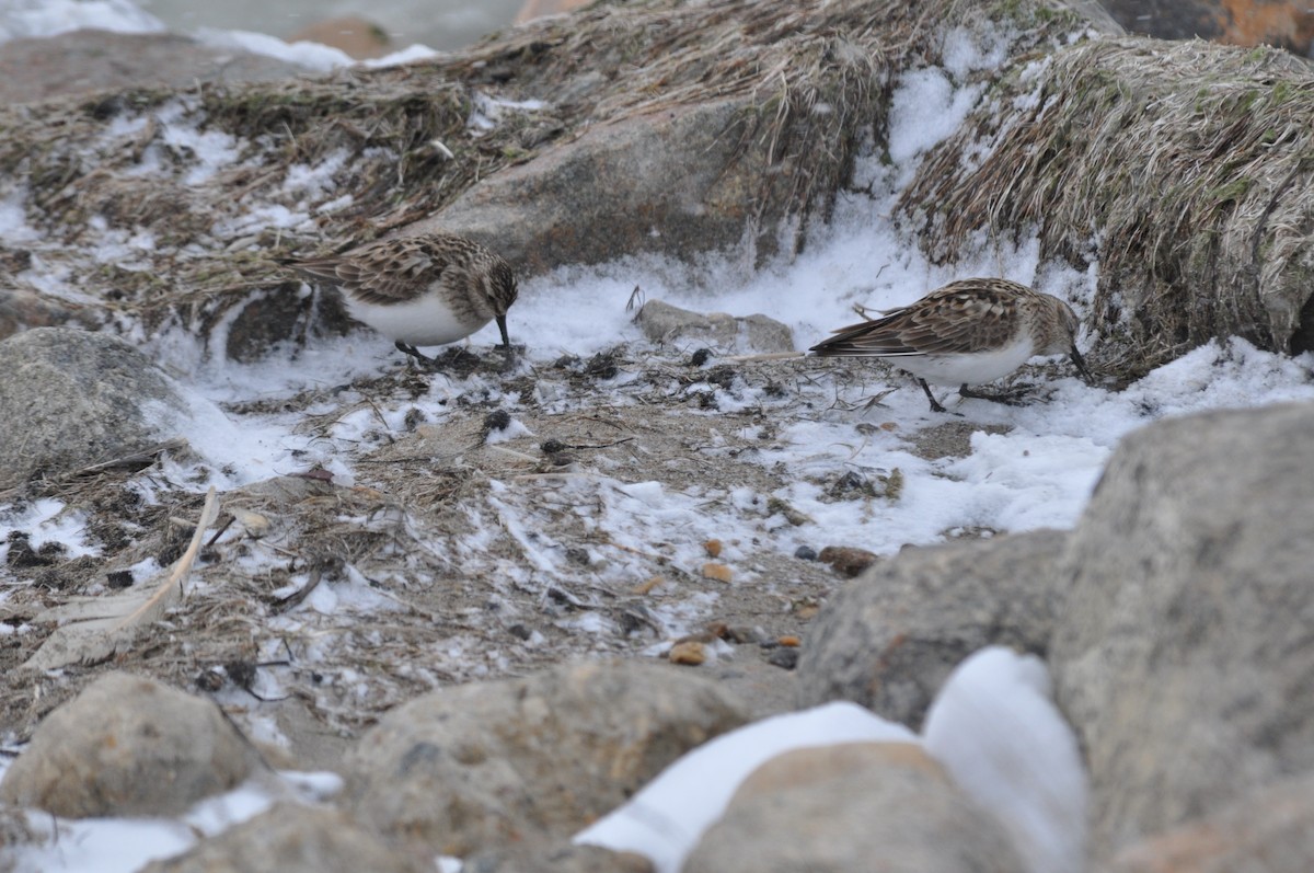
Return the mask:
<path fill-rule="evenodd" d="M 1314 347 L 1314 72 L 1271 49 L 1123 38 L 1022 59 L 908 189 L 937 260 L 1038 227 L 1101 267 L 1101 366 L 1143 373 L 1214 337 Z M 966 155 L 992 142 L 984 159 Z M 966 170 L 964 170 L 966 167 Z M 1095 241 L 1097 239 L 1097 243 Z M 1303 322 L 1303 327 L 1302 327 Z"/>

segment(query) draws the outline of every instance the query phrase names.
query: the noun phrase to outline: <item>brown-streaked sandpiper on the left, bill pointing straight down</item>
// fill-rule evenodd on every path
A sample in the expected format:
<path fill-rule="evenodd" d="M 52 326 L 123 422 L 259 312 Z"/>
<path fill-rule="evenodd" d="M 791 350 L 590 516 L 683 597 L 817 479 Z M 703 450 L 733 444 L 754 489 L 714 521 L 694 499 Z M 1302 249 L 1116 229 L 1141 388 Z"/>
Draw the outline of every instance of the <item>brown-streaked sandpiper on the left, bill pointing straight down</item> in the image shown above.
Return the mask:
<path fill-rule="evenodd" d="M 515 273 L 484 246 L 451 234 L 378 239 L 340 255 L 284 266 L 342 292 L 347 314 L 431 362 L 417 346 L 443 346 L 497 321 L 510 348 L 506 310 L 519 293 Z"/>

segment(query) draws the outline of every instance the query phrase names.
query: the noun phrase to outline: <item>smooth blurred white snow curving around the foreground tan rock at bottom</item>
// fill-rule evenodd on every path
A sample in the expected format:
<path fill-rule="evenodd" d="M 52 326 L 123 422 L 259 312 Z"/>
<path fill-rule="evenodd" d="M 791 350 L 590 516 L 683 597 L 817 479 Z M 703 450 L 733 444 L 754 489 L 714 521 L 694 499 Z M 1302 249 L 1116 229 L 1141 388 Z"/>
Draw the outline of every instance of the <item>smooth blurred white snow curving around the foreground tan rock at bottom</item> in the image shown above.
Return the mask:
<path fill-rule="evenodd" d="M 1076 739 L 1031 655 L 989 647 L 950 674 L 924 736 L 849 702 L 777 715 L 699 745 L 576 843 L 639 852 L 678 873 L 738 785 L 783 752 L 838 743 L 922 743 L 958 786 L 1013 836 L 1029 873 L 1084 869 L 1085 774 Z"/>

